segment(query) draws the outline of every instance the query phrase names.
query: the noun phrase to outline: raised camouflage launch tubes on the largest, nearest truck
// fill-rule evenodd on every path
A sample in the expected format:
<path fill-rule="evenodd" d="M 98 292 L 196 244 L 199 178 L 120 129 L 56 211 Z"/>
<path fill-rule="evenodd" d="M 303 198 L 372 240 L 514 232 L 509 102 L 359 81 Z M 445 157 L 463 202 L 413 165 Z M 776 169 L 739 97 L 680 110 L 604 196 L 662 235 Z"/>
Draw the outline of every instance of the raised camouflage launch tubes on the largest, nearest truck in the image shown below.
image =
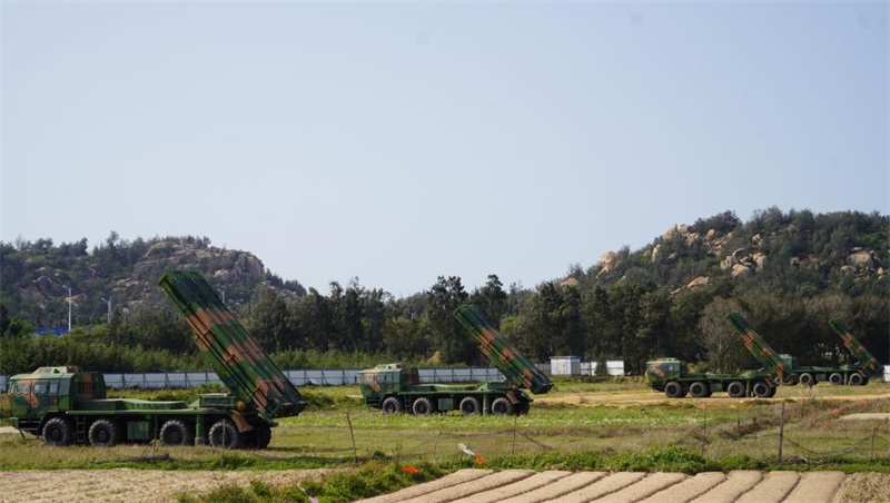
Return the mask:
<path fill-rule="evenodd" d="M 270 425 L 274 417 L 303 411 L 303 395 L 200 274 L 168 272 L 158 286 L 191 326 L 201 356 L 237 398 L 239 411 L 256 414 Z"/>

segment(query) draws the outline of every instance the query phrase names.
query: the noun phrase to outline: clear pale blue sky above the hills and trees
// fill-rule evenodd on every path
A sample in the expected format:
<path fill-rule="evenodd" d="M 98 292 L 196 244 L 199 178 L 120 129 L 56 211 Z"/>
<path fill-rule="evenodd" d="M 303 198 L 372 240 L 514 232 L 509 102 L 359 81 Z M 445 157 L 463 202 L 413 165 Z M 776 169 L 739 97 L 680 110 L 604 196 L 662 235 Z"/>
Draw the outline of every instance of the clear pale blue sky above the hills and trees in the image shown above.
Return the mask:
<path fill-rule="evenodd" d="M 533 287 L 724 210 L 890 213 L 886 2 L 0 3 L 0 239 Z"/>

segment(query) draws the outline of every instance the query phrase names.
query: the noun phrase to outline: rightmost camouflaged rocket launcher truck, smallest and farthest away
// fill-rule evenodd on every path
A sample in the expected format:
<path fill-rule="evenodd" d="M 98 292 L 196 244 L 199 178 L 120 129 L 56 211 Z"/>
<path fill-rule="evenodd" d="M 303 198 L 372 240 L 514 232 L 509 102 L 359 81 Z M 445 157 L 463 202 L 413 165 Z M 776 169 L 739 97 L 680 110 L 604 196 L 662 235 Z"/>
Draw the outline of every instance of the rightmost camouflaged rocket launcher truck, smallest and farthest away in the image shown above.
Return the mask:
<path fill-rule="evenodd" d="M 878 372 L 880 368 L 878 358 L 866 349 L 840 319 L 831 319 L 828 324 L 841 337 L 844 347 L 857 362 L 838 366 L 804 366 L 798 365 L 797 358 L 783 353 L 779 355 L 779 358 L 791 368 L 792 373 L 782 384 L 800 383 L 815 386 L 821 382 L 829 382 L 833 385 L 863 386 L 869 383 L 869 376 Z"/>

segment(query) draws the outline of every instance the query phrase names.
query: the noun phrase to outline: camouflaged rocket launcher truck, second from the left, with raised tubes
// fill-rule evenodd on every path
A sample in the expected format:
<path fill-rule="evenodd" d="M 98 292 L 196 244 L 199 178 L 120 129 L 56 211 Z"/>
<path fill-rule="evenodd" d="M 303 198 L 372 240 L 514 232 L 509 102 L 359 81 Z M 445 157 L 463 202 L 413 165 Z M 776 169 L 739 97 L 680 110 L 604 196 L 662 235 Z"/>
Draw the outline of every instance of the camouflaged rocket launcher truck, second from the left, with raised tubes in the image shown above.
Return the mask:
<path fill-rule="evenodd" d="M 506 377 L 505 382 L 468 384 L 421 384 L 417 371 L 395 363 L 377 365 L 359 375 L 362 397 L 367 406 L 384 414 L 407 412 L 429 415 L 461 411 L 465 415 L 527 414 L 532 393 L 547 393 L 553 383 L 485 319 L 473 305 L 463 305 L 455 317 L 479 343 L 482 353 Z"/>

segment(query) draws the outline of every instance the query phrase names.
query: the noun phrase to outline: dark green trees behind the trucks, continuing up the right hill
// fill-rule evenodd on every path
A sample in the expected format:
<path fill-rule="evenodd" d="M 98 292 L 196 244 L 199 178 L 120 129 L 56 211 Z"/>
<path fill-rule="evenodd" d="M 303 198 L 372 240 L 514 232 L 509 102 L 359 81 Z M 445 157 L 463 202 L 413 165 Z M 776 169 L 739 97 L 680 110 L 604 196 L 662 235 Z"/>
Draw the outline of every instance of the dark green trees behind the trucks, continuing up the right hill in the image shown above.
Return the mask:
<path fill-rule="evenodd" d="M 586 269 L 570 266 L 565 277 L 534 288 L 504 287 L 492 274 L 482 287 L 467 290 L 461 277 L 443 275 L 428 289 L 403 298 L 358 279 L 345 286 L 332 283 L 329 294 L 322 294 L 297 282 L 283 288 L 286 282 L 266 272 L 267 280 L 246 302 L 227 304 L 263 347 L 291 368 L 390 361 L 485 365 L 476 343 L 453 317 L 467 302 L 537 362 L 555 355 L 616 358 L 640 373 L 647 359 L 675 356 L 702 369 L 754 368 L 724 322 L 730 310 L 742 312 L 777 351 L 803 364 L 838 364 L 849 357 L 827 325 L 831 317 L 843 319 L 887 362 L 890 276 L 883 267 L 890 264 L 889 225 L 877 213 L 814 215 L 769 208 L 742 223 L 725 211 L 639 250 L 625 247 L 607 263 Z M 735 277 L 721 263 L 736 251 L 768 260 L 752 265 L 755 273 Z M 852 267 L 853 254 L 863 251 L 871 253 L 868 264 Z M 706 280 L 700 285 L 688 285 L 702 277 Z M 60 338 L 31 337 L 27 323 L 11 309 L 3 308 L 2 318 L 3 373 L 50 361 L 119 372 L 206 368 L 188 327 L 169 307 L 136 308 L 126 315 L 118 310 L 111 323 L 91 333 Z M 79 349 L 91 344 L 96 351 Z"/>

